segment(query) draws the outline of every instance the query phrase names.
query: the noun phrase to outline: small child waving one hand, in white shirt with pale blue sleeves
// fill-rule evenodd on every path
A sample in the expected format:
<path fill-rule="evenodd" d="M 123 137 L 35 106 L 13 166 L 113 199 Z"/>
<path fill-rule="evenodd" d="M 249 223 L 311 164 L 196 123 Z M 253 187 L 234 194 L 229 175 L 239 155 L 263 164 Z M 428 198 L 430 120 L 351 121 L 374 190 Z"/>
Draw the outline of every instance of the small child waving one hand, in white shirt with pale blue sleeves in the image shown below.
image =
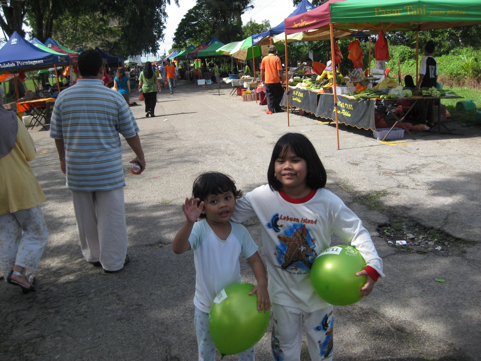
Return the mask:
<path fill-rule="evenodd" d="M 214 361 L 215 346 L 209 330 L 209 311 L 215 296 L 229 284 L 241 282 L 239 256 L 251 265 L 257 285 L 259 312 L 270 308 L 264 262 L 257 245 L 241 224 L 230 221 L 242 195 L 235 182 L 218 172 L 207 172 L 194 181 L 192 197 L 182 205 L 186 221 L 177 232 L 172 248 L 180 254 L 192 249 L 195 264 L 195 328 L 199 361 Z M 197 222 L 198 218 L 202 220 Z M 254 348 L 239 353 L 239 360 L 254 360 Z"/>

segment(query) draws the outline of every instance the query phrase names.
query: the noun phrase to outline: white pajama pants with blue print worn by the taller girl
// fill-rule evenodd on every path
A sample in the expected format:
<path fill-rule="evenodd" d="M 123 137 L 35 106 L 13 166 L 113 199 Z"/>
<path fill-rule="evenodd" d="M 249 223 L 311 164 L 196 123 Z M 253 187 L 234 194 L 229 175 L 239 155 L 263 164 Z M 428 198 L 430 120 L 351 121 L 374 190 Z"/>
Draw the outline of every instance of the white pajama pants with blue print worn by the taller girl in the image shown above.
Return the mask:
<path fill-rule="evenodd" d="M 272 356 L 275 361 L 301 359 L 302 328 L 312 361 L 331 361 L 334 314 L 331 305 L 313 312 L 296 307 L 272 304 Z"/>

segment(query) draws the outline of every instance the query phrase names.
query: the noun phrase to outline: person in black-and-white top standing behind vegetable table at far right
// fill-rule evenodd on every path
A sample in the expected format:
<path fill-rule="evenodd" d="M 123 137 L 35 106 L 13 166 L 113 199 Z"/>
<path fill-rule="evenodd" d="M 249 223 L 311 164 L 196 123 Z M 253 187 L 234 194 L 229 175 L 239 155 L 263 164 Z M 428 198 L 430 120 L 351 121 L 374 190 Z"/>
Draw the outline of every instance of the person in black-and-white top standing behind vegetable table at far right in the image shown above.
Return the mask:
<path fill-rule="evenodd" d="M 434 49 L 434 41 L 428 41 L 424 47 L 424 57 L 421 58 L 419 64 L 419 79 L 416 83 L 416 89 L 436 87 L 438 81 L 438 63 L 436 59 L 432 57 Z M 424 102 L 421 103 L 419 119 L 426 122 L 429 127 L 434 125 L 433 106 L 438 104 L 439 101 L 434 99 L 425 99 Z"/>

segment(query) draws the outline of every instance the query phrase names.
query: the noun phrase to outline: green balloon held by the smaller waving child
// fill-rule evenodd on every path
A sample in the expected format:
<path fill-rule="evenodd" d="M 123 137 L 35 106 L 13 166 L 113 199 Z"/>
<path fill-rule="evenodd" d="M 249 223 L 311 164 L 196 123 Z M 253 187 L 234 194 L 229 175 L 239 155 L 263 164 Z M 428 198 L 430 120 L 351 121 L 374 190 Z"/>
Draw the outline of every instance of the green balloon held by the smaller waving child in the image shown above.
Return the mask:
<path fill-rule="evenodd" d="M 209 327 L 215 347 L 224 355 L 235 355 L 253 347 L 266 333 L 270 312 L 257 310 L 257 294 L 246 282 L 220 291 L 209 313 Z"/>

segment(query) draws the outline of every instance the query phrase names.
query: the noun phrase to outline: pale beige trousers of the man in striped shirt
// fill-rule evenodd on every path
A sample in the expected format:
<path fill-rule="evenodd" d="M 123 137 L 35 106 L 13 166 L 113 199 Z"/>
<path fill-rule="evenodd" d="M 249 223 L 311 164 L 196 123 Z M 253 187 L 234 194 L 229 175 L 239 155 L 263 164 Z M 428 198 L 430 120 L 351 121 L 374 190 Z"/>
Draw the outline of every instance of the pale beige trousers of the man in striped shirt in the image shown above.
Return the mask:
<path fill-rule="evenodd" d="M 127 255 L 124 188 L 111 191 L 71 191 L 82 254 L 107 271 L 124 267 Z"/>

